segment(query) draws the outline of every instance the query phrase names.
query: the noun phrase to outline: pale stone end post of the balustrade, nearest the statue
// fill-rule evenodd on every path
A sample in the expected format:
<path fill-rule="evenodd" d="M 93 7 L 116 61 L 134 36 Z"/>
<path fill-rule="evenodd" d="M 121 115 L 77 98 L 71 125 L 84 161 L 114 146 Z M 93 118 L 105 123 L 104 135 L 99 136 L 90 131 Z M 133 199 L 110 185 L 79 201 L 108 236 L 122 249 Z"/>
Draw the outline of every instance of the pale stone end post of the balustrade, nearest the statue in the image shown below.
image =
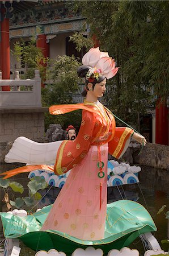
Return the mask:
<path fill-rule="evenodd" d="M 35 105 L 41 107 L 41 78 L 40 78 L 40 72 L 39 69 L 35 69 L 35 85 L 33 86 L 33 95 Z"/>

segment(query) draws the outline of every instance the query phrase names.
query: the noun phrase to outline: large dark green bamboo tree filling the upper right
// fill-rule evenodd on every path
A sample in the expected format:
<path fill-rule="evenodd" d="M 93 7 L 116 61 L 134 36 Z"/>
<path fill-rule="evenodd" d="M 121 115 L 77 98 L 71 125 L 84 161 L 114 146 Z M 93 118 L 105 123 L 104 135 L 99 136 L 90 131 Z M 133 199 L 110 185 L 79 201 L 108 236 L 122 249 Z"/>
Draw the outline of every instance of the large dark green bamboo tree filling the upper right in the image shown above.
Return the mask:
<path fill-rule="evenodd" d="M 120 67 L 108 81 L 108 107 L 126 121 L 137 117 L 139 129 L 140 115 L 154 107 L 154 97 L 169 94 L 169 2 L 76 1 L 75 8 L 90 24 L 90 39 L 95 35 Z"/>

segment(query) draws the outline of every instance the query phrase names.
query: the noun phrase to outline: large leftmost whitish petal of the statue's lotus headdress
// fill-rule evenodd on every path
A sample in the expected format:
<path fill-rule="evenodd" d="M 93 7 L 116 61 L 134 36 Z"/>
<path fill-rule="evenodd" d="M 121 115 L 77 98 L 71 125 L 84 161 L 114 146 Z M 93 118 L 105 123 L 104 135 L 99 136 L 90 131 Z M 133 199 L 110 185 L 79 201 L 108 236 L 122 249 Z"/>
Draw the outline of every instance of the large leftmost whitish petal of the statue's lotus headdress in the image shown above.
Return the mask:
<path fill-rule="evenodd" d="M 91 48 L 82 58 L 83 65 L 88 65 L 90 67 L 95 67 L 96 63 L 100 59 L 99 47 Z"/>

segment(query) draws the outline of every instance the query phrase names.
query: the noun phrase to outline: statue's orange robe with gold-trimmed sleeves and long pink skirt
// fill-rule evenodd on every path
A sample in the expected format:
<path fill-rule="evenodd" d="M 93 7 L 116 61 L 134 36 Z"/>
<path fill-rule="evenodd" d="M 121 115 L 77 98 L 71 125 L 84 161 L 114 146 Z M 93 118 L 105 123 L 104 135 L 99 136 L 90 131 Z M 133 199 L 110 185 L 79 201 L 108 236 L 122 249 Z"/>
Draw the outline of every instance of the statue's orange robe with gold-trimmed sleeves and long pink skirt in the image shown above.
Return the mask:
<path fill-rule="evenodd" d="M 107 209 L 108 152 L 120 158 L 133 130 L 116 128 L 113 114 L 100 103 L 52 106 L 50 113 L 75 109 L 83 109 L 81 128 L 74 141 L 61 143 L 54 165 L 57 175 L 72 170 L 42 230 L 56 229 L 82 240 L 99 240 L 104 238 Z"/>

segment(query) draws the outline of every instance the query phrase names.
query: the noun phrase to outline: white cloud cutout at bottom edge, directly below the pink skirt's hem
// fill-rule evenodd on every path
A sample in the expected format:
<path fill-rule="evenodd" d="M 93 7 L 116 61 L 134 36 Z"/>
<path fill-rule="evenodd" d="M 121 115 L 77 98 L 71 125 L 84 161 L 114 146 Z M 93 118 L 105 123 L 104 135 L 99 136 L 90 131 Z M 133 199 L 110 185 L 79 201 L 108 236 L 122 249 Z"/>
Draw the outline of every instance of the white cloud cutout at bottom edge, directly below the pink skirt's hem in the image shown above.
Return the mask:
<path fill-rule="evenodd" d="M 94 247 L 87 247 L 85 250 L 78 248 L 75 249 L 72 256 L 103 256 L 102 249 L 95 249 Z"/>

